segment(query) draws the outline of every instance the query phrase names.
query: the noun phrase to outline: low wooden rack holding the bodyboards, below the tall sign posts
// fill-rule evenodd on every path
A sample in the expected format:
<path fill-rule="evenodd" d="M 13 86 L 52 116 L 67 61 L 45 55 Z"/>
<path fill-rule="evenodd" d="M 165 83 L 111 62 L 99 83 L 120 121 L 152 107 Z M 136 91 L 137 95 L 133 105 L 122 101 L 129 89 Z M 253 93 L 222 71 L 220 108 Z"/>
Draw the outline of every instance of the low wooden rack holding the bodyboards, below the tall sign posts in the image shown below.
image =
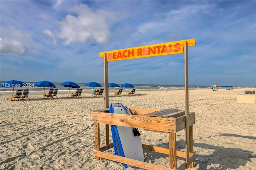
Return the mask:
<path fill-rule="evenodd" d="M 186 158 L 186 152 L 176 150 L 176 132 L 186 128 L 185 111 L 177 109 L 165 109 L 162 111 L 153 109 L 128 108 L 133 115 L 111 114 L 109 109 L 99 109 L 92 111 L 92 120 L 94 122 L 95 132 L 95 150 L 93 155 L 96 159 L 100 158 L 129 164 L 144 169 L 164 170 L 178 169 L 184 170 L 186 162 L 177 168 L 177 157 Z M 190 158 L 188 164 L 193 168 L 195 155 L 193 154 L 193 125 L 195 123 L 195 114 L 189 113 L 189 138 L 190 138 Z M 100 124 L 105 124 L 105 145 L 100 146 Z M 109 143 L 109 125 L 118 125 L 124 127 L 136 127 L 144 130 L 168 133 L 169 148 L 150 146 L 142 144 L 144 150 L 150 150 L 169 155 L 170 168 L 141 162 L 130 158 L 106 153 L 106 150 L 113 148 L 113 143 Z"/>

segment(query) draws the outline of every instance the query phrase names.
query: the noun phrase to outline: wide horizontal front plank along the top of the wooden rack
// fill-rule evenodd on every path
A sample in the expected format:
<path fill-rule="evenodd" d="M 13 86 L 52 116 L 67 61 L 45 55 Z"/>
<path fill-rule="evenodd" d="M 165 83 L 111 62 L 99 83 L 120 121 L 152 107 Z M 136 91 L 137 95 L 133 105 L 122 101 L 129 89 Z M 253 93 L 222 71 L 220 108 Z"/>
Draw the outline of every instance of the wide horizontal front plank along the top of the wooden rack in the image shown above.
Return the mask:
<path fill-rule="evenodd" d="M 172 118 L 148 117 L 139 115 L 124 115 L 92 112 L 92 121 L 123 127 L 146 128 L 164 132 L 176 132 L 176 121 Z"/>

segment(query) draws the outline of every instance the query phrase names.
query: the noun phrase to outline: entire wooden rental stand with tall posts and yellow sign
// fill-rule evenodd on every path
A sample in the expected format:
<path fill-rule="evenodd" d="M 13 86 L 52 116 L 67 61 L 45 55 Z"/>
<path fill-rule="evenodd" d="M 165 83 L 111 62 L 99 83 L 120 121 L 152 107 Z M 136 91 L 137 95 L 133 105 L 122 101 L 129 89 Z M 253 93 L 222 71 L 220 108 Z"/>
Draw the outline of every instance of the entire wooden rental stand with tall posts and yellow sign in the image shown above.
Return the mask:
<path fill-rule="evenodd" d="M 168 118 L 162 118 L 162 121 L 172 121 L 176 122 L 174 127 L 169 128 L 163 128 L 162 132 L 168 132 L 169 133 L 169 149 L 164 150 L 163 148 L 160 149 L 159 147 L 152 147 L 145 144 L 142 144 L 143 149 L 152 150 L 155 152 L 161 152 L 165 154 L 169 154 L 170 159 L 170 168 L 171 169 L 177 169 L 177 163 L 176 163 L 176 156 L 180 156 L 183 158 L 186 158 L 185 164 L 182 164 L 179 169 L 185 169 L 185 168 L 193 168 L 195 155 L 193 154 L 193 124 L 194 124 L 194 113 L 189 112 L 189 102 L 188 102 L 188 46 L 194 46 L 196 45 L 195 39 L 189 39 L 189 40 L 181 40 L 176 42 L 167 42 L 167 43 L 159 43 L 154 45 L 146 45 L 146 46 L 140 46 L 140 47 L 132 47 L 127 49 L 118 49 L 113 51 L 105 51 L 100 52 L 100 57 L 104 57 L 104 88 L 105 88 L 105 109 L 100 109 L 93 111 L 92 117 L 94 121 L 94 127 L 95 127 L 95 150 L 94 150 L 94 156 L 96 159 L 100 158 L 106 158 L 110 160 L 115 160 L 122 163 L 128 163 L 134 166 L 138 166 L 145 169 L 158 169 L 159 167 L 156 165 L 150 165 L 146 162 L 140 162 L 137 160 L 131 160 L 129 158 L 120 158 L 120 156 L 112 156 L 111 154 L 104 153 L 104 151 L 113 148 L 113 144 L 109 143 L 109 125 L 119 125 L 119 126 L 125 126 L 125 127 L 137 127 L 137 128 L 144 128 L 145 130 L 151 128 L 151 130 L 158 131 L 159 127 L 162 127 L 162 124 L 156 125 L 155 127 L 150 127 L 150 123 L 148 126 L 146 125 L 140 125 L 140 122 L 138 119 L 137 121 L 134 121 L 130 119 L 130 124 L 126 125 L 123 122 L 120 121 L 120 117 L 122 117 L 122 120 L 128 119 L 128 115 L 118 115 L 116 118 L 113 117 L 116 114 L 107 114 L 109 112 L 109 96 L 108 96 L 108 62 L 109 61 L 118 61 L 118 60 L 125 60 L 125 59 L 136 59 L 136 58 L 143 58 L 143 57 L 154 57 L 154 56 L 160 56 L 160 55 L 172 55 L 172 54 L 178 54 L 178 53 L 184 53 L 184 72 L 185 72 L 185 115 L 184 118 L 182 118 L 182 115 L 179 113 L 170 113 L 171 111 L 165 111 L 169 115 L 172 115 L 172 117 Z M 150 119 L 148 122 L 152 122 L 155 119 L 150 117 L 148 115 L 152 116 L 152 112 L 156 113 L 156 110 L 150 110 L 150 109 L 136 109 L 136 108 L 130 108 L 130 111 L 133 112 L 136 110 L 136 113 L 138 115 L 133 115 L 134 119 L 136 120 L 136 117 L 145 117 L 144 119 Z M 172 109 L 171 109 L 172 110 Z M 164 112 L 158 111 L 161 113 L 160 115 L 163 115 Z M 131 116 L 131 115 L 130 115 Z M 169 120 L 166 120 L 169 119 Z M 114 121 L 115 120 L 115 121 Z M 125 122 L 125 121 L 124 121 Z M 104 123 L 106 126 L 106 140 L 104 147 L 100 147 L 100 136 L 99 136 L 99 124 Z M 183 124 L 184 123 L 184 124 Z M 170 125 L 171 126 L 171 125 Z M 173 128 L 173 129 L 172 129 Z M 176 150 L 176 132 L 179 130 L 182 130 L 186 128 L 186 152 L 183 154 L 181 151 Z M 170 132 L 171 130 L 171 132 Z M 160 169 L 162 169 L 161 167 Z M 164 168 L 165 169 L 165 168 Z M 169 168 L 167 168 L 169 169 Z"/>

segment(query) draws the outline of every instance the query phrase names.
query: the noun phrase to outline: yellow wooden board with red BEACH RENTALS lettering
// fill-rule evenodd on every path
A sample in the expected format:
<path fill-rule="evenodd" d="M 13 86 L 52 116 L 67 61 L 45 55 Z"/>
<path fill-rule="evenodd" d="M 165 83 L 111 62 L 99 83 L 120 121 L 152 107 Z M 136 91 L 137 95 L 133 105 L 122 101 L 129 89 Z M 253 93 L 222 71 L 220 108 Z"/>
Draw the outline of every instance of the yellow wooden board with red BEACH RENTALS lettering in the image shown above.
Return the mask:
<path fill-rule="evenodd" d="M 124 59 L 136 59 L 143 57 L 154 57 L 160 55 L 171 55 L 184 53 L 184 42 L 188 43 L 188 46 L 196 45 L 195 39 L 181 40 L 177 42 L 159 43 L 154 45 L 146 45 L 140 47 L 132 47 L 126 49 L 117 49 L 113 51 L 100 52 L 100 57 L 104 57 L 106 53 L 107 61 L 117 61 Z"/>

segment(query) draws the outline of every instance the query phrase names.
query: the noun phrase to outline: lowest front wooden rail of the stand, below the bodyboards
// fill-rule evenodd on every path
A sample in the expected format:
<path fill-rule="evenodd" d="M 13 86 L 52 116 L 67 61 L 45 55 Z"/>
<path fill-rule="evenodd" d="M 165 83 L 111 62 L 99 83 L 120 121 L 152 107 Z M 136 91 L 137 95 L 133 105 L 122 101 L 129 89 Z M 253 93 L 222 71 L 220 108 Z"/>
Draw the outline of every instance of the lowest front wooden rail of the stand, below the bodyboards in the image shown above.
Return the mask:
<path fill-rule="evenodd" d="M 134 160 L 134 159 L 130 159 L 130 158 L 122 157 L 122 156 L 117 156 L 117 155 L 114 155 L 114 154 L 100 152 L 100 151 L 97 151 L 97 150 L 93 150 L 93 155 L 98 156 L 100 158 L 112 160 L 112 161 L 115 161 L 115 162 L 121 162 L 123 164 L 136 166 L 136 167 L 146 169 L 146 170 L 174 170 L 174 169 L 166 168 L 166 167 L 163 167 L 163 166 L 158 166 L 158 165 L 155 165 L 155 164 L 142 162 L 142 161 L 139 161 L 139 160 Z"/>

